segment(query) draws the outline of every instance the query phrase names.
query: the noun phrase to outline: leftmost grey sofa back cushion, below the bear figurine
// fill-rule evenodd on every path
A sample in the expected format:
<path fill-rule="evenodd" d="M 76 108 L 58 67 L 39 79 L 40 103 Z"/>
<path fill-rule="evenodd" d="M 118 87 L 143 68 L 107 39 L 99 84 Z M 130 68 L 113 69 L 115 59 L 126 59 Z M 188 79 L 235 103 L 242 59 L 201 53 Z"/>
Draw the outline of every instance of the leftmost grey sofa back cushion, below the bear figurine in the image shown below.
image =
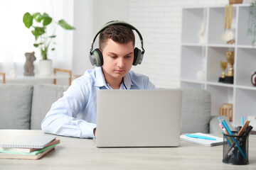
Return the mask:
<path fill-rule="evenodd" d="M 0 85 L 0 129 L 29 129 L 33 86 Z"/>

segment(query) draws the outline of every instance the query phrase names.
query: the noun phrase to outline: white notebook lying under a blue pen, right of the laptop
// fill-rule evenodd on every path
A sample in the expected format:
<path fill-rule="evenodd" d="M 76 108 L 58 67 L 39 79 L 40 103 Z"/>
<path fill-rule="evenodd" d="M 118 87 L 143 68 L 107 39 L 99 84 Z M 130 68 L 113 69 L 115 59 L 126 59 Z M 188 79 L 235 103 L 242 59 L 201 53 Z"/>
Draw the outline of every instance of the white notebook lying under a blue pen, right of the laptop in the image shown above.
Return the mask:
<path fill-rule="evenodd" d="M 203 139 L 194 138 L 194 137 L 187 137 L 186 135 L 181 135 L 181 140 L 188 141 L 188 142 L 193 142 L 193 143 L 200 144 L 200 145 L 205 145 L 205 146 L 208 146 L 208 147 L 223 145 L 223 137 L 216 137 L 216 136 L 204 134 L 204 133 L 201 133 L 201 132 L 193 133 L 192 135 L 213 137 L 216 140 L 203 140 Z"/>

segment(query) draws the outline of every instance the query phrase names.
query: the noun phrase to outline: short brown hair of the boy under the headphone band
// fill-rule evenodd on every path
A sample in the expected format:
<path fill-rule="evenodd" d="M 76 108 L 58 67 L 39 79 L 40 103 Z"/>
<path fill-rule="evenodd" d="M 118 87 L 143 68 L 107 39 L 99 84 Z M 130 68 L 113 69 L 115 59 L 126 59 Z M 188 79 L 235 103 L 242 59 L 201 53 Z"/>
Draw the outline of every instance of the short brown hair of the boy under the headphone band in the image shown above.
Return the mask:
<path fill-rule="evenodd" d="M 99 38 L 99 47 L 100 49 L 104 49 L 105 45 L 107 45 L 108 39 L 113 40 L 114 42 L 119 42 L 121 44 L 125 44 L 127 42 L 132 41 L 132 45 L 135 45 L 135 36 L 134 32 L 131 28 L 127 26 L 108 26 L 100 33 Z"/>

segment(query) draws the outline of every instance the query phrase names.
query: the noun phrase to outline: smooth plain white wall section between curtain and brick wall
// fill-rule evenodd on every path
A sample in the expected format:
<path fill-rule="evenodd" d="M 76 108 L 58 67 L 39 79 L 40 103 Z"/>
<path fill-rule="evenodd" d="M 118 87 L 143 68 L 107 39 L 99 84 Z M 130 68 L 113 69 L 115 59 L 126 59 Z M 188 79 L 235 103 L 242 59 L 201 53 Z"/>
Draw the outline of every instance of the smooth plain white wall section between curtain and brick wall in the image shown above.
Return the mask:
<path fill-rule="evenodd" d="M 89 60 L 92 37 L 108 21 L 127 21 L 128 2 L 119 0 L 74 1 L 76 30 L 74 31 L 73 45 L 73 75 L 84 74 L 87 69 L 93 68 Z M 93 47 L 98 47 L 97 40 Z"/>

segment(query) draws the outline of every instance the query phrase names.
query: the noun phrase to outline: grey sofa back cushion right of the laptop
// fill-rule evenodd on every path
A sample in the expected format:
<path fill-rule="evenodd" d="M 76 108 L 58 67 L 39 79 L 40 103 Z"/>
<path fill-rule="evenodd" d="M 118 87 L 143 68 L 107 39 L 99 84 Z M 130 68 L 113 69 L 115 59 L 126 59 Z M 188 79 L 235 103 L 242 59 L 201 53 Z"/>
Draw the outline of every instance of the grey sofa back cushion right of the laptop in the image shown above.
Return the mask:
<path fill-rule="evenodd" d="M 182 89 L 181 132 L 209 132 L 210 93 L 201 89 Z"/>

